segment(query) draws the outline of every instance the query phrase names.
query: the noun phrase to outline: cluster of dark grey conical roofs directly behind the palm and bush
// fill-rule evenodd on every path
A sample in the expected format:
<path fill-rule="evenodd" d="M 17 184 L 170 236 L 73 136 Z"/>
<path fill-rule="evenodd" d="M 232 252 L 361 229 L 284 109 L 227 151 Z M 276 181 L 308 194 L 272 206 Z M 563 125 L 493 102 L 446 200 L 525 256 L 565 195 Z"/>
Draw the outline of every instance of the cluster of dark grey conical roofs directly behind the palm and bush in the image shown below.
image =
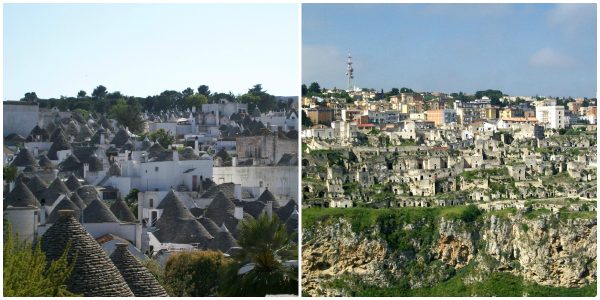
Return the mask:
<path fill-rule="evenodd" d="M 298 211 L 294 201 L 280 206 L 268 189 L 257 201 L 238 201 L 229 187 L 232 188 L 225 184 L 209 188 L 201 197 L 213 200 L 203 213 L 191 212 L 173 190 L 169 191 L 157 206 L 162 214 L 155 225 L 156 238 L 161 243 L 194 244 L 200 249 L 228 253 L 238 247 L 241 221 L 261 214 L 276 215 L 285 223 L 288 233 L 297 232 Z M 235 217 L 236 205 L 244 208 L 242 220 Z"/>

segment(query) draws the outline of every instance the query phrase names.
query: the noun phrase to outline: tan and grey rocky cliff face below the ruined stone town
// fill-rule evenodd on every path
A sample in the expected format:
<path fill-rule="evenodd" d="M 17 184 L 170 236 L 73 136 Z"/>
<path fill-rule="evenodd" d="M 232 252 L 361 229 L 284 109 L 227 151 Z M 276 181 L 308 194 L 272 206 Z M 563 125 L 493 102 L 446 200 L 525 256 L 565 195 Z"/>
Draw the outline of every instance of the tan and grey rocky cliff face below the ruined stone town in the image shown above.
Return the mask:
<path fill-rule="evenodd" d="M 419 230 L 414 224 L 396 226 L 398 231 Z M 596 282 L 596 219 L 491 215 L 465 223 L 440 218 L 432 237 L 412 237 L 403 249 L 394 249 L 381 231 L 374 225 L 368 232 L 355 233 L 344 218 L 305 229 L 304 292 L 343 295 L 331 284 L 343 276 L 382 287 L 404 278 L 410 288 L 426 287 L 468 265 L 473 270 L 465 283 L 493 272 L 510 272 L 540 285 L 579 287 Z"/>

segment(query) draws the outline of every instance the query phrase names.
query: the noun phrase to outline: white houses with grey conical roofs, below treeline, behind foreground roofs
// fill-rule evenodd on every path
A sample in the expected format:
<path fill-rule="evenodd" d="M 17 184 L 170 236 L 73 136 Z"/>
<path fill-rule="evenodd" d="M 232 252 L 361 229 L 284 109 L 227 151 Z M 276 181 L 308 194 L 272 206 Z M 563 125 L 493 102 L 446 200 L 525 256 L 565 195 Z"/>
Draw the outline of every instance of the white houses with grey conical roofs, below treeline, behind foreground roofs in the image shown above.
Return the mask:
<path fill-rule="evenodd" d="M 146 132 L 167 131 L 171 145 L 100 114 L 13 101 L 4 112 L 3 164 L 16 172 L 4 182 L 4 218 L 23 239 L 44 240 L 61 222 L 77 223 L 92 238 L 86 243 L 119 261 L 164 262 L 188 249 L 229 255 L 239 249 L 241 222 L 261 214 L 297 232 L 296 111 L 248 112 L 222 100 L 144 113 Z M 6 122 L 7 112 L 36 122 Z"/>

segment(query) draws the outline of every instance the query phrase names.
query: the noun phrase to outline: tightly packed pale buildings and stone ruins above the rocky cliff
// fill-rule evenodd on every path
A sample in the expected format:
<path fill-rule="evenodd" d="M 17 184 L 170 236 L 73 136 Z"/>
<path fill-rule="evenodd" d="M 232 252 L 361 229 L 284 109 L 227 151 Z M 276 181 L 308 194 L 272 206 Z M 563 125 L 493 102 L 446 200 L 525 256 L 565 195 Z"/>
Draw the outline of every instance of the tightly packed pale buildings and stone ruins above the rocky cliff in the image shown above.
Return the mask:
<path fill-rule="evenodd" d="M 573 114 L 555 100 L 504 109 L 491 106 L 487 97 L 438 100 L 426 102 L 416 93 L 343 104 L 304 99 L 316 125 L 301 133 L 303 206 L 573 198 L 595 209 L 595 121 L 571 122 Z M 423 110 L 433 102 L 453 108 Z M 535 108 L 527 108 L 530 104 Z"/>

